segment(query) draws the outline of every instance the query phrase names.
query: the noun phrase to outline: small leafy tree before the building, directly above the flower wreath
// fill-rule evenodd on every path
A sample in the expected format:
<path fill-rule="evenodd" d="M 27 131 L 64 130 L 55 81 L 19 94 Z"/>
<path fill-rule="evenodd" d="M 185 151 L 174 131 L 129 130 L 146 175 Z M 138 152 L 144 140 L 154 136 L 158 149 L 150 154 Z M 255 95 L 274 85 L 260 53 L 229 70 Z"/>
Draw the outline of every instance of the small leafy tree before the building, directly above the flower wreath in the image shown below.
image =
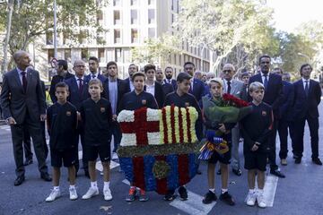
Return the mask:
<path fill-rule="evenodd" d="M 166 64 L 170 63 L 171 55 L 179 53 L 179 39 L 164 34 L 161 38 L 144 40 L 144 46 L 133 47 L 131 60 L 136 64 Z"/>

